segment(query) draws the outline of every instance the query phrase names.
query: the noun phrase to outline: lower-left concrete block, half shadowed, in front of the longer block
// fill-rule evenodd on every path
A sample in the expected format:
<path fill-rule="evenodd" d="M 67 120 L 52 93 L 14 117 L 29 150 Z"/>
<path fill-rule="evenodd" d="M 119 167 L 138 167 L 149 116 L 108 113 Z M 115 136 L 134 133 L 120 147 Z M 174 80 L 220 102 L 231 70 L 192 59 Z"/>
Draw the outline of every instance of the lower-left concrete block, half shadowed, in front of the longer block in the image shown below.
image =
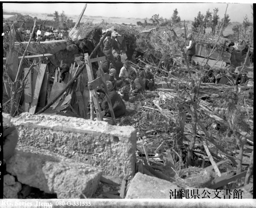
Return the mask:
<path fill-rule="evenodd" d="M 56 193 L 58 198 L 91 197 L 102 173 L 92 165 L 34 147 L 17 148 L 6 162 L 6 171 L 20 183 Z"/>

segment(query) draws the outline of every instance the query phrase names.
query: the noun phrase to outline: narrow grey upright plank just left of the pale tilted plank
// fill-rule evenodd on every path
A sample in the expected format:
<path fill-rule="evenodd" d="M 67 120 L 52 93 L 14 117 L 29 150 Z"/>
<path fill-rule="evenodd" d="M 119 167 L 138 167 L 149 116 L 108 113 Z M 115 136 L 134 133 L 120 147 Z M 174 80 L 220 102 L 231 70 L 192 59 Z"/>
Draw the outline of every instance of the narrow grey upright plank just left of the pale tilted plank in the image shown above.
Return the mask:
<path fill-rule="evenodd" d="M 24 68 L 24 74 L 28 73 L 29 68 Z M 25 112 L 29 112 L 30 104 L 32 102 L 32 73 L 31 70 L 28 73 L 27 83 L 24 88 L 24 101 Z"/>

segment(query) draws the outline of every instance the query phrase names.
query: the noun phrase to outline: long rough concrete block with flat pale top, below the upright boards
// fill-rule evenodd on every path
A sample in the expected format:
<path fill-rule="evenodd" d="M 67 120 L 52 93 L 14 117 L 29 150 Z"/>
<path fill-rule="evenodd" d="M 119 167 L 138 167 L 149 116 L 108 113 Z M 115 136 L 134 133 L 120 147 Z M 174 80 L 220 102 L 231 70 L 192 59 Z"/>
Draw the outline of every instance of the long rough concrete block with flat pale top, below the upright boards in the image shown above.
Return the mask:
<path fill-rule="evenodd" d="M 101 168 L 103 174 L 132 179 L 136 163 L 136 130 L 107 122 L 58 115 L 22 113 L 12 119 L 20 146 L 48 149 Z"/>

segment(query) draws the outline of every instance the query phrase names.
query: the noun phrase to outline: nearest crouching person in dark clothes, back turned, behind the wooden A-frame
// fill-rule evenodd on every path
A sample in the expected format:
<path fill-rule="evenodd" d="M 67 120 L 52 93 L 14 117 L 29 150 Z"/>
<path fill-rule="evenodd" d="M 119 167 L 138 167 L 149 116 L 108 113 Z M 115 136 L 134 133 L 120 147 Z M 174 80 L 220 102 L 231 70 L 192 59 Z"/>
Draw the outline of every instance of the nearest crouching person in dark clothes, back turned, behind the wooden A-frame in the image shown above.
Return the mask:
<path fill-rule="evenodd" d="M 125 114 L 125 104 L 117 92 L 113 89 L 113 85 L 110 81 L 107 82 L 108 95 L 111 100 L 112 108 L 115 114 L 115 117 L 123 116 Z M 104 97 L 101 103 L 101 109 L 105 111 L 105 116 L 110 116 L 110 110 L 108 107 L 107 96 Z"/>

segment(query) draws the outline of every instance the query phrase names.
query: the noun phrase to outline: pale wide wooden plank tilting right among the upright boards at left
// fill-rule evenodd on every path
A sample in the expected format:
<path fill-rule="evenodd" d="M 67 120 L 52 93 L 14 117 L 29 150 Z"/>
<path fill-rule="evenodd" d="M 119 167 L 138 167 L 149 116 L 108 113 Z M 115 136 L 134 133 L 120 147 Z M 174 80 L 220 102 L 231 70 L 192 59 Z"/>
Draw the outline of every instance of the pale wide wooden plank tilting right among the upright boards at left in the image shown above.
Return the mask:
<path fill-rule="evenodd" d="M 36 86 L 35 86 L 35 90 L 34 90 L 33 100 L 30 105 L 29 113 L 35 114 L 35 112 L 36 112 L 36 106 L 37 106 L 39 94 L 40 94 L 43 79 L 44 79 L 45 69 L 46 69 L 46 64 L 41 64 L 38 69 L 38 75 L 36 78 Z"/>

